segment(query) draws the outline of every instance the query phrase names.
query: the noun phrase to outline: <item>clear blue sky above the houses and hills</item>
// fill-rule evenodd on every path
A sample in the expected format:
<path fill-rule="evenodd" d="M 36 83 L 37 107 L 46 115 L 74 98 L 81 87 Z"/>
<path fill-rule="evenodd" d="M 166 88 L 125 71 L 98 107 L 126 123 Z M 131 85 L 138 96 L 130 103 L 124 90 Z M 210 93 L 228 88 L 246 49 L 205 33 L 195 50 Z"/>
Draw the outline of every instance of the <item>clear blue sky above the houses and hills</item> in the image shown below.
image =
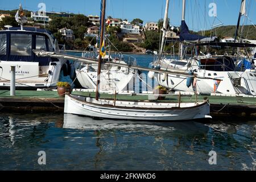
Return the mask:
<path fill-rule="evenodd" d="M 256 1 L 247 1 L 247 14 L 256 24 Z M 47 11 L 66 11 L 85 15 L 100 14 L 100 0 L 9 0 L 0 1 L 0 9 L 17 9 L 22 3 L 24 9 L 38 11 L 39 3 L 46 3 Z M 208 15 L 209 4 L 216 3 L 217 19 Z M 141 18 L 144 23 L 157 22 L 164 16 L 166 0 L 107 0 L 106 13 L 113 18 L 133 20 Z M 181 0 L 170 0 L 169 18 L 171 24 L 179 26 L 181 20 Z M 210 26 L 223 22 L 224 25 L 237 24 L 241 0 L 187 0 L 186 22 L 191 30 L 207 30 Z M 205 16 L 206 14 L 206 16 Z M 204 18 L 206 17 L 206 18 Z M 243 20 L 243 19 L 242 19 Z M 250 24 L 247 19 L 246 24 Z"/>

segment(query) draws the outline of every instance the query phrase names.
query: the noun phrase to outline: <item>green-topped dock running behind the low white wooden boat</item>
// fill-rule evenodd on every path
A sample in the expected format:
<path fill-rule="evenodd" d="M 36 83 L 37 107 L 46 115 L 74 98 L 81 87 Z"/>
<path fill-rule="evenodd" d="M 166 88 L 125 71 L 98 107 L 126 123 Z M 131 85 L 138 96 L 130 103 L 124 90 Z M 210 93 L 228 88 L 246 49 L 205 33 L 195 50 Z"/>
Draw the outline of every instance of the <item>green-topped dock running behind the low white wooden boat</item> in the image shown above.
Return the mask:
<path fill-rule="evenodd" d="M 94 92 L 72 92 L 80 96 L 95 97 Z M 149 101 L 148 94 L 118 94 L 117 100 Z M 101 98 L 113 99 L 114 94 L 102 93 Z M 256 97 L 197 96 L 198 101 L 209 100 L 212 115 L 256 115 Z M 183 95 L 181 102 L 195 102 L 196 96 Z M 179 96 L 166 95 L 158 102 L 179 102 Z M 10 96 L 9 90 L 0 90 L 1 112 L 63 112 L 64 97 L 56 91 L 16 90 L 16 96 Z"/>

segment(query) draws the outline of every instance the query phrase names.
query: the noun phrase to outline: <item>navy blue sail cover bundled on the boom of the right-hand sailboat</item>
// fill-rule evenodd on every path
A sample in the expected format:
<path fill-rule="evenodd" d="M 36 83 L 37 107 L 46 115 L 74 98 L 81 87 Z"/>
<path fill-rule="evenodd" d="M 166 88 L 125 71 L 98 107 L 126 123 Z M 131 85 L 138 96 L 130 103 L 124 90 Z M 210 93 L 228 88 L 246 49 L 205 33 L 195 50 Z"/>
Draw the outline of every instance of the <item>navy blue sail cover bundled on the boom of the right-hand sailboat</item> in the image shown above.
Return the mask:
<path fill-rule="evenodd" d="M 190 34 L 185 20 L 181 21 L 181 32 L 180 32 L 181 42 L 212 42 L 214 40 L 215 40 L 215 37 L 209 38 L 207 36 Z"/>

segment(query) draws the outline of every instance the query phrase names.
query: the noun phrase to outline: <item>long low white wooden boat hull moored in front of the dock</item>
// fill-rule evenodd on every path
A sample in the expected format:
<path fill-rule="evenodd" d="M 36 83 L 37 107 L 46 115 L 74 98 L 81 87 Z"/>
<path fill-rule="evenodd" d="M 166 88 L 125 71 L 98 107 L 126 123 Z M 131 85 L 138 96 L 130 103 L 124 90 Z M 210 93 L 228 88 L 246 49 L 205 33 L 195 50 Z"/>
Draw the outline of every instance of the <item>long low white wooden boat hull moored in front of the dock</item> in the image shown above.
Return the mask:
<path fill-rule="evenodd" d="M 141 121 L 186 121 L 210 117 L 207 101 L 198 103 L 160 103 L 114 101 L 75 95 L 65 96 L 64 113 L 93 118 Z"/>

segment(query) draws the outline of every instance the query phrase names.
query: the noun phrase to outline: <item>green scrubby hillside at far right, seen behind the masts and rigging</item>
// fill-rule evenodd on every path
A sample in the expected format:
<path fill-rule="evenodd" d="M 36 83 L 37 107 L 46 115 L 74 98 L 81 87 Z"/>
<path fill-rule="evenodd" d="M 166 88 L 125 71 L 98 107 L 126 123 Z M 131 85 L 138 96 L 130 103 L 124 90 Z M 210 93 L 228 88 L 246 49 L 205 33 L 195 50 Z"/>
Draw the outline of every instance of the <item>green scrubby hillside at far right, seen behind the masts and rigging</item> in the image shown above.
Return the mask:
<path fill-rule="evenodd" d="M 242 27 L 240 27 L 241 30 Z M 210 36 L 210 30 L 205 31 L 205 36 Z M 212 30 L 213 34 L 215 34 L 215 30 Z M 233 37 L 235 36 L 236 26 L 222 26 L 216 28 L 216 34 L 219 38 L 223 37 Z M 200 32 L 201 33 L 201 32 Z M 253 39 L 256 40 L 256 28 L 253 26 L 245 26 L 243 30 L 242 38 Z"/>

